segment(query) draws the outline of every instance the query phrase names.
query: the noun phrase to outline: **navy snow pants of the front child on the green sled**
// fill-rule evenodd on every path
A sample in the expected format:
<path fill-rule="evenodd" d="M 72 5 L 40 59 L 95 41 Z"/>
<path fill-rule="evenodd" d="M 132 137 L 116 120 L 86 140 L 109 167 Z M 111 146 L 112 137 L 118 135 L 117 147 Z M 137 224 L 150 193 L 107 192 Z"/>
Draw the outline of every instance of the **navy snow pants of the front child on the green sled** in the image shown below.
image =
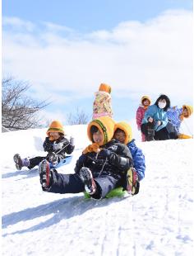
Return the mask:
<path fill-rule="evenodd" d="M 53 169 L 53 182 L 48 192 L 53 193 L 80 193 L 85 192 L 85 185 L 78 174 L 62 174 Z M 95 199 L 104 198 L 113 188 L 119 187 L 118 179 L 109 175 L 94 178 L 97 186 L 96 192 L 91 197 Z"/>

